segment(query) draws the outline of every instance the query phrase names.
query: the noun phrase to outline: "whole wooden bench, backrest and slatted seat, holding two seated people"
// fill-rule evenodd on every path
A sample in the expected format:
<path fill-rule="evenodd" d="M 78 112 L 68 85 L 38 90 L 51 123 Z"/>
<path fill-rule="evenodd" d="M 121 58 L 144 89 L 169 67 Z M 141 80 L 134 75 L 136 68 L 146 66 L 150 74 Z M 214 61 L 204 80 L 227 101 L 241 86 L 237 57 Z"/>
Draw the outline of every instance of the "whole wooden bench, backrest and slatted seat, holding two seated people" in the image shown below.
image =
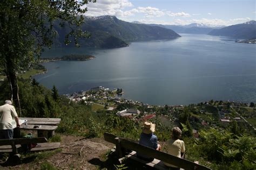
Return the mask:
<path fill-rule="evenodd" d="M 104 133 L 104 139 L 110 143 L 116 144 L 116 152 L 119 158 L 126 157 L 129 159 L 133 159 L 142 164 L 145 164 L 146 166 L 150 166 L 156 169 L 169 169 L 167 166 L 164 165 L 163 162 L 172 164 L 183 169 L 210 169 L 206 166 L 196 164 L 190 160 L 178 158 L 171 154 L 154 150 L 153 148 L 134 143 L 133 141 L 124 138 L 119 138 L 110 133 Z M 125 152 L 127 150 L 130 150 L 132 152 Z M 149 162 L 139 159 L 138 157 L 136 157 L 136 152 L 154 158 L 154 160 Z"/>

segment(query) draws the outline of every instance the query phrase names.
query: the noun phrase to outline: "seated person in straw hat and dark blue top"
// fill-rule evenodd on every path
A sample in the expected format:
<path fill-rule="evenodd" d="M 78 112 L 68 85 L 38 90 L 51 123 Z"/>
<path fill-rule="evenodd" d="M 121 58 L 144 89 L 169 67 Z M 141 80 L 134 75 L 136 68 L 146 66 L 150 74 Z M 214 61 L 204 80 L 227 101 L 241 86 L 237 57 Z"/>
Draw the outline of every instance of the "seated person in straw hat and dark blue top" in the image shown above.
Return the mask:
<path fill-rule="evenodd" d="M 160 151 L 161 146 L 157 142 L 157 136 L 153 134 L 155 128 L 156 124 L 152 124 L 151 122 L 145 122 L 142 133 L 140 134 L 139 144 Z M 146 161 L 154 160 L 154 158 L 147 157 L 146 155 L 140 153 L 137 153 L 137 157 Z"/>

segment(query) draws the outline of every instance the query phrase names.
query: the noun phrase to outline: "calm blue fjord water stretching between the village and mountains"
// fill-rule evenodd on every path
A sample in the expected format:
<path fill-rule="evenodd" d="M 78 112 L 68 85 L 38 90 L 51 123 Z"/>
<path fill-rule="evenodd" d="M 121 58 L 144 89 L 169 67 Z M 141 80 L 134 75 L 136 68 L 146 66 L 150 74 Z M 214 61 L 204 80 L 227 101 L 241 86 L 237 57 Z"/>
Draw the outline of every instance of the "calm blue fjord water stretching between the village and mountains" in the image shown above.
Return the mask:
<path fill-rule="evenodd" d="M 44 57 L 92 54 L 90 61 L 44 63 L 35 79 L 60 94 L 103 86 L 122 88 L 143 103 L 190 104 L 208 100 L 256 101 L 256 45 L 226 37 L 180 34 L 167 41 L 132 42 L 115 49 L 53 48 Z"/>

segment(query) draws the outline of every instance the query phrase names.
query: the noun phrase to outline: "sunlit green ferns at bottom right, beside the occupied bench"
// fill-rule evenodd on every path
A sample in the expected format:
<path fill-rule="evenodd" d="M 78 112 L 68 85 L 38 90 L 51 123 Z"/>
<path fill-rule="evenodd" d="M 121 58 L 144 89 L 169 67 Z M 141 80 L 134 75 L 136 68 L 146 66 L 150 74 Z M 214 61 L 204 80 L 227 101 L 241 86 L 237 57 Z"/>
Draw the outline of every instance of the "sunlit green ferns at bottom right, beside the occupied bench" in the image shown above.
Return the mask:
<path fill-rule="evenodd" d="M 235 136 L 226 130 L 209 129 L 200 131 L 197 149 L 201 156 L 220 165 L 241 169 L 255 169 L 255 137 Z"/>

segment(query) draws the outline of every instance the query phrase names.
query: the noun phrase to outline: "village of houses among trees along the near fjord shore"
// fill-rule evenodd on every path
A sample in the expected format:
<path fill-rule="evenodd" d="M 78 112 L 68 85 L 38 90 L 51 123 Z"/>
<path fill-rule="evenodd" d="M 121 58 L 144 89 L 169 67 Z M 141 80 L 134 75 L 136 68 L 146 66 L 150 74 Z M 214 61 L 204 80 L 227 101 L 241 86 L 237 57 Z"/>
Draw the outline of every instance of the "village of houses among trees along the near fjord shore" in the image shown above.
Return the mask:
<path fill-rule="evenodd" d="M 134 121 L 148 121 L 160 115 L 160 121 L 166 125 L 178 124 L 179 114 L 186 107 L 184 105 L 150 105 L 122 98 L 123 93 L 124 91 L 119 88 L 110 90 L 99 86 L 65 96 L 72 102 L 84 102 L 98 106 L 98 109 L 109 110 L 118 116 L 127 117 Z M 191 104 L 191 106 L 194 109 L 190 116 L 191 122 L 200 123 L 202 126 L 218 126 L 219 123 L 226 126 L 232 121 L 236 121 L 244 122 L 247 128 L 256 130 L 255 122 L 251 121 L 255 119 L 254 113 L 256 112 L 253 102 L 211 100 Z M 214 120 L 214 117 L 217 117 L 218 120 Z M 193 129 L 193 135 L 198 136 L 197 129 Z"/>

